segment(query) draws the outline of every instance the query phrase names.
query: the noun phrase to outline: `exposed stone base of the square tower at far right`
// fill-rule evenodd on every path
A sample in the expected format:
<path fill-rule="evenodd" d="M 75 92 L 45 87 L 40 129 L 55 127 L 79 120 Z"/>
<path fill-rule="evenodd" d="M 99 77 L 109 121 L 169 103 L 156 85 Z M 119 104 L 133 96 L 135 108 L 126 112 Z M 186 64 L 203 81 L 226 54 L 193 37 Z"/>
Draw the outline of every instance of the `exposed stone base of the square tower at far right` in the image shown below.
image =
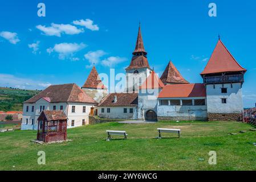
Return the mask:
<path fill-rule="evenodd" d="M 242 121 L 241 113 L 208 113 L 209 121 Z"/>

